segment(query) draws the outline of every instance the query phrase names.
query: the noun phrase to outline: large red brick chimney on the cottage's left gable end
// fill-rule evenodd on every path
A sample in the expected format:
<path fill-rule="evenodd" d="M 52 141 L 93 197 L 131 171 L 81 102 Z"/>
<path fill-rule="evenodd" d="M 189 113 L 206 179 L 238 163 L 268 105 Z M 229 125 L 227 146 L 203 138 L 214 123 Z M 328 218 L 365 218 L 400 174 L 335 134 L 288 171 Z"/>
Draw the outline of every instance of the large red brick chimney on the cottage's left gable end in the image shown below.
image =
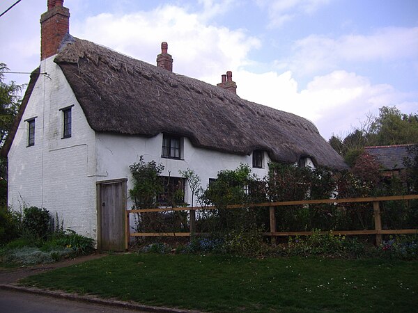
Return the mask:
<path fill-rule="evenodd" d="M 48 10 L 40 15 L 40 60 L 58 53 L 61 42 L 70 31 L 70 10 L 63 0 L 47 0 Z"/>

